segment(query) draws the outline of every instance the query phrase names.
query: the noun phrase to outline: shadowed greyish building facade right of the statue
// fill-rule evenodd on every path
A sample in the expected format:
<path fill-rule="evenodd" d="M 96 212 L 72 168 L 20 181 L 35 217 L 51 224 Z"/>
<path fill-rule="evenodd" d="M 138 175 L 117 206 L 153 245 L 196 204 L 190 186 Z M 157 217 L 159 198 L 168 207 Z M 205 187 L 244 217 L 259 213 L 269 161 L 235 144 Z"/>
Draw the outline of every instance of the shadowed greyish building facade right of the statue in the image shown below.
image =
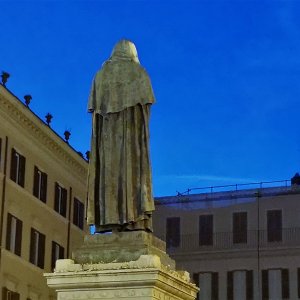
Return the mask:
<path fill-rule="evenodd" d="M 156 198 L 154 232 L 201 300 L 300 299 L 299 201 L 297 183 Z"/>

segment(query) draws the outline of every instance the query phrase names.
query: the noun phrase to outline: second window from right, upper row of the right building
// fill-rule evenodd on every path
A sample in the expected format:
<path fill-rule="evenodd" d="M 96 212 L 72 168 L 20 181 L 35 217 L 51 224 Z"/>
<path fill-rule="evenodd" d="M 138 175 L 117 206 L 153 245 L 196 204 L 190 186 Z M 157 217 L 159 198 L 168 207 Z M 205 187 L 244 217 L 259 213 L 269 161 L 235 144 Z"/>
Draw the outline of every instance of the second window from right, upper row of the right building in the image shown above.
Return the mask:
<path fill-rule="evenodd" d="M 233 213 L 232 218 L 233 243 L 247 243 L 247 212 Z"/>

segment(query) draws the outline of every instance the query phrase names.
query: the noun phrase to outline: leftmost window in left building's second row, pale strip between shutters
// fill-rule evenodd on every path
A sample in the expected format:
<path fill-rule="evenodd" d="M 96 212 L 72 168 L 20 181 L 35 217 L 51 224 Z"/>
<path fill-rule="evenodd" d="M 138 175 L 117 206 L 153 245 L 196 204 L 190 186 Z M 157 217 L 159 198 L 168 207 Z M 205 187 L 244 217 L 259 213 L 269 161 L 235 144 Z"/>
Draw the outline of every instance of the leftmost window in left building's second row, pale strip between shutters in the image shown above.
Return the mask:
<path fill-rule="evenodd" d="M 6 249 L 21 256 L 22 221 L 10 213 L 7 214 Z"/>

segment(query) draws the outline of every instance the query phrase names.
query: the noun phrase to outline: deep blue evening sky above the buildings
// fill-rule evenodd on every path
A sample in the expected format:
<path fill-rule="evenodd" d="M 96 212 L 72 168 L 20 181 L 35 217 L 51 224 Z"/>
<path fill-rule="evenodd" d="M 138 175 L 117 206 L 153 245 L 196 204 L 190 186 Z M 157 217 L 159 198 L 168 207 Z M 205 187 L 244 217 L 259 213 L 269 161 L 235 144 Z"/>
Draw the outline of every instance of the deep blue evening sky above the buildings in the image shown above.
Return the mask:
<path fill-rule="evenodd" d="M 300 1 L 1 1 L 0 71 L 89 148 L 92 78 L 121 38 L 152 107 L 155 196 L 300 171 Z"/>

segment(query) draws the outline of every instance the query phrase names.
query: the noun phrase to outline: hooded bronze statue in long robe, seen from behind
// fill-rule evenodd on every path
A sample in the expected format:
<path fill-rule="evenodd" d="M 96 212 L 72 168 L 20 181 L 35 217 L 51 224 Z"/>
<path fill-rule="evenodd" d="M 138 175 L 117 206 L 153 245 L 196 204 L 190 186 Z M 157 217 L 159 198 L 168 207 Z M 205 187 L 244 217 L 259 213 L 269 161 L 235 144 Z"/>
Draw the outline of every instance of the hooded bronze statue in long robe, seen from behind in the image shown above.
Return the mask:
<path fill-rule="evenodd" d="M 88 110 L 93 130 L 87 221 L 96 232 L 152 231 L 149 76 L 135 45 L 122 40 L 96 74 Z"/>

